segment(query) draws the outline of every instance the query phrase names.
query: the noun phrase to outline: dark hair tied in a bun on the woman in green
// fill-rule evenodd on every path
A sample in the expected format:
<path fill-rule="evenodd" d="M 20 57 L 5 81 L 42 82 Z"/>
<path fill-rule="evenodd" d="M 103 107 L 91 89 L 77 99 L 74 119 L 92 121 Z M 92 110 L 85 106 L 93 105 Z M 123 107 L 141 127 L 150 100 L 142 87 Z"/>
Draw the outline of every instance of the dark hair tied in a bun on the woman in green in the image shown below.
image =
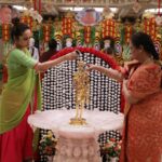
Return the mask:
<path fill-rule="evenodd" d="M 15 39 L 18 39 L 19 36 L 23 36 L 24 31 L 27 29 L 29 29 L 29 27 L 26 24 L 14 22 L 11 30 L 12 40 L 14 41 Z"/>

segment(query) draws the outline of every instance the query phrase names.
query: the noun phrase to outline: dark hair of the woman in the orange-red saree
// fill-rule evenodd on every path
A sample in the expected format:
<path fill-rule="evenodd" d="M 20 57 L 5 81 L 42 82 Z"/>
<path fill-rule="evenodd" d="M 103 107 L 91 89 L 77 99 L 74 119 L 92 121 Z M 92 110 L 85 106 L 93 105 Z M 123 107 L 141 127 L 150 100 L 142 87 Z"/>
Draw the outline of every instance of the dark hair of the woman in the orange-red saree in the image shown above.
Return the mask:
<path fill-rule="evenodd" d="M 159 54 L 149 35 L 141 31 L 135 32 L 132 35 L 131 41 L 135 48 L 140 48 L 141 45 L 146 52 L 153 56 L 153 59 L 159 59 Z"/>

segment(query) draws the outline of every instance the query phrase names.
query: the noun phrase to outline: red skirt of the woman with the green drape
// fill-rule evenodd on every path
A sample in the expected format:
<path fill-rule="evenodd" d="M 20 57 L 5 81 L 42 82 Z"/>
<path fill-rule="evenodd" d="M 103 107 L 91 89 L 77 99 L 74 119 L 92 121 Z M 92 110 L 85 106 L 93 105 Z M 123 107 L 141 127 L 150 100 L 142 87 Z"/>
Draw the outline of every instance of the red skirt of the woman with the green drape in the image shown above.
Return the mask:
<path fill-rule="evenodd" d="M 18 126 L 0 135 L 0 162 L 22 162 L 22 160 L 32 158 L 33 133 L 27 123 L 29 114 L 30 107 L 28 107 Z"/>

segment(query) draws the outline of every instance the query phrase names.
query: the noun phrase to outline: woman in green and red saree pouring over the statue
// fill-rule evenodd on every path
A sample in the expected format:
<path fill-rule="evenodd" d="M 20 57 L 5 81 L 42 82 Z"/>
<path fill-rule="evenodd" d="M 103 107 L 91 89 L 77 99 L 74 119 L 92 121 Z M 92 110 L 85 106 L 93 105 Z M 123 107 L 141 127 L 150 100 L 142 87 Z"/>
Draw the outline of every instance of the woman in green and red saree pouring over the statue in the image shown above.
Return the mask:
<path fill-rule="evenodd" d="M 72 52 L 54 60 L 39 63 L 31 58 L 28 43 L 31 31 L 25 24 L 18 23 L 12 29 L 15 43 L 8 56 L 9 78 L 2 91 L 0 103 L 0 162 L 25 162 L 32 159 L 32 131 L 27 118 L 37 108 L 41 109 L 39 71 L 56 66 L 65 60 L 77 58 Z M 37 95 L 33 93 L 37 92 Z"/>

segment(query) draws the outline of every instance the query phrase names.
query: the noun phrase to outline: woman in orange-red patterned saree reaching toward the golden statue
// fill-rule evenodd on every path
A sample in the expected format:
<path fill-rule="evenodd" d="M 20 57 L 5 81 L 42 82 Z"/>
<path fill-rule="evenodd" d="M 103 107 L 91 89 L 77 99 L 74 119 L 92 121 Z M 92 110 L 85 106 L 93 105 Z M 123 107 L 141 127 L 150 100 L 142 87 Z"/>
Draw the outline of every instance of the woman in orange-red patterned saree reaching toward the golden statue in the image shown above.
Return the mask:
<path fill-rule="evenodd" d="M 123 84 L 126 100 L 120 162 L 162 162 L 162 69 L 150 37 L 136 32 L 120 70 L 91 65 Z"/>

